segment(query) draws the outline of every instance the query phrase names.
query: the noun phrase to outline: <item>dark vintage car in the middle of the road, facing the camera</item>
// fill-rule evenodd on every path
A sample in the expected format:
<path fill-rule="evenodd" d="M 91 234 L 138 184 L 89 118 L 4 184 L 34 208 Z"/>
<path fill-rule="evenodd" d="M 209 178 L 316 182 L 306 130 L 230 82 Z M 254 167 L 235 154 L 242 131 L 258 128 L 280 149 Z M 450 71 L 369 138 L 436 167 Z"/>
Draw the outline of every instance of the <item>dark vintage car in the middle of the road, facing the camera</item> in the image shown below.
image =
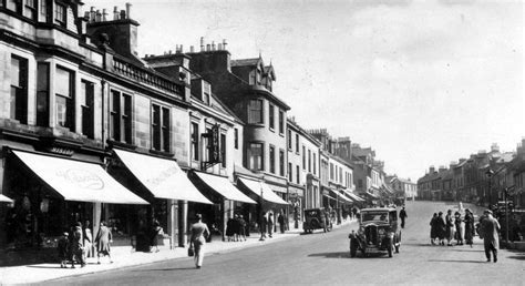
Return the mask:
<path fill-rule="evenodd" d="M 364 208 L 359 216 L 359 229 L 352 231 L 350 238 L 350 257 L 356 257 L 358 249 L 363 256 L 368 253 L 399 253 L 401 231 L 398 226 L 395 208 Z"/>

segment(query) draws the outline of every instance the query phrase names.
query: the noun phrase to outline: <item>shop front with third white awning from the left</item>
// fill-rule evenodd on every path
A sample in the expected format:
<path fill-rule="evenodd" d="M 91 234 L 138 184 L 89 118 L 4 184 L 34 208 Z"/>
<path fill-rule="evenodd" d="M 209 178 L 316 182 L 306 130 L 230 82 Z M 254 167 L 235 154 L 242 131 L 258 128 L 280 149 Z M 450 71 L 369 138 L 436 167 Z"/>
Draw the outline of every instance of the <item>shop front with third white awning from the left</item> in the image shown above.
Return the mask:
<path fill-rule="evenodd" d="M 225 241 L 228 218 L 234 217 L 234 214 L 248 217 L 243 206 L 248 205 L 249 207 L 249 205 L 257 204 L 256 201 L 249 198 L 233 185 L 228 177 L 197 171 L 189 171 L 188 177 L 214 203 L 213 205 L 191 204 L 188 207 L 189 217 L 200 213 L 203 222 L 208 225 L 213 235 L 219 235 L 223 241 Z"/>

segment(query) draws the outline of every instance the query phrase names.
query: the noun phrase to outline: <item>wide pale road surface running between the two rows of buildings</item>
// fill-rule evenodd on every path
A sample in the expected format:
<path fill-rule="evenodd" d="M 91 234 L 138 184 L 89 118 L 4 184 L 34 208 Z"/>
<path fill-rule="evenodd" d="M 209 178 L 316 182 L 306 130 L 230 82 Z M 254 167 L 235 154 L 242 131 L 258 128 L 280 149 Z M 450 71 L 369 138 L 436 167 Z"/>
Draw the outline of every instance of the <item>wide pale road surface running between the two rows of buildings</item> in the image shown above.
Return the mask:
<path fill-rule="evenodd" d="M 288 241 L 214 255 L 202 269 L 193 258 L 54 280 L 52 284 L 513 284 L 522 285 L 524 253 L 500 251 L 500 261 L 486 263 L 483 242 L 474 247 L 431 246 L 432 213 L 452 205 L 409 202 L 402 245 L 387 255 L 349 258 L 348 233 L 352 223 L 330 233 L 301 235 Z"/>

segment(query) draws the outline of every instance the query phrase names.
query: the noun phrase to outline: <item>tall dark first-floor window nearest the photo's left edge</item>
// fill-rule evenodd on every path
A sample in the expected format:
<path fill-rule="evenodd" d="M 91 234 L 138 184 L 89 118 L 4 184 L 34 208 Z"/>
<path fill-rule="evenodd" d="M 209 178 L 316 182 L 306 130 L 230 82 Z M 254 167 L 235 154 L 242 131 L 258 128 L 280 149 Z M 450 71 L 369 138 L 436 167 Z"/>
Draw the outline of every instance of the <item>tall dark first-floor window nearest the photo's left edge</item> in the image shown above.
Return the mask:
<path fill-rule="evenodd" d="M 28 124 L 28 60 L 11 57 L 11 119 Z"/>

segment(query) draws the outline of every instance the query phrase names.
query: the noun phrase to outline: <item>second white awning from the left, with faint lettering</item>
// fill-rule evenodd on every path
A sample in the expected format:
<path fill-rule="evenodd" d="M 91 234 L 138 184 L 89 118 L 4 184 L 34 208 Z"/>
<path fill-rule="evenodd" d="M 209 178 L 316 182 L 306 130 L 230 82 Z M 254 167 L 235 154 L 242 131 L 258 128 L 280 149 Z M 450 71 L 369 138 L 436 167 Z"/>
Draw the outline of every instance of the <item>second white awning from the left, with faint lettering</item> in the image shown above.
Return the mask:
<path fill-rule="evenodd" d="M 155 197 L 213 204 L 192 184 L 177 162 L 122 150 L 114 152 Z"/>

